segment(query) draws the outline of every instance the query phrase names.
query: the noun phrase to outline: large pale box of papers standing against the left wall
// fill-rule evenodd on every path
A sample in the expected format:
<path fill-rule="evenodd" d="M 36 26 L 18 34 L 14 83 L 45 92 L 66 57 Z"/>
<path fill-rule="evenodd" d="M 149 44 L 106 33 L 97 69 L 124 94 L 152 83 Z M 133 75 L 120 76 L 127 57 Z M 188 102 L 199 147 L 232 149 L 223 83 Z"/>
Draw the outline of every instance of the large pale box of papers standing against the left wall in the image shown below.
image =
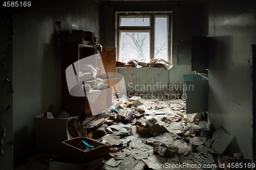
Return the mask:
<path fill-rule="evenodd" d="M 74 122 L 77 118 L 54 118 L 51 112 L 34 117 L 36 150 L 60 152 L 62 141 L 79 137 Z"/>

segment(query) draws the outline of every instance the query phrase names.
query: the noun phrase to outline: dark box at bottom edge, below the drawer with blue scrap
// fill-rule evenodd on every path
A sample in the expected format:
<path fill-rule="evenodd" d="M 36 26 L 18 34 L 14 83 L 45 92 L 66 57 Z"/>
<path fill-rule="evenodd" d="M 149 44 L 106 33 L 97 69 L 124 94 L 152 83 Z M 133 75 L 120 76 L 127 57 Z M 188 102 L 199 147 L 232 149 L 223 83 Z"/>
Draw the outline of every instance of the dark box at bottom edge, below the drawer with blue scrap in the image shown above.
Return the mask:
<path fill-rule="evenodd" d="M 90 163 L 81 163 L 66 155 L 60 155 L 50 160 L 49 170 L 95 170 L 102 165 L 103 157 Z"/>

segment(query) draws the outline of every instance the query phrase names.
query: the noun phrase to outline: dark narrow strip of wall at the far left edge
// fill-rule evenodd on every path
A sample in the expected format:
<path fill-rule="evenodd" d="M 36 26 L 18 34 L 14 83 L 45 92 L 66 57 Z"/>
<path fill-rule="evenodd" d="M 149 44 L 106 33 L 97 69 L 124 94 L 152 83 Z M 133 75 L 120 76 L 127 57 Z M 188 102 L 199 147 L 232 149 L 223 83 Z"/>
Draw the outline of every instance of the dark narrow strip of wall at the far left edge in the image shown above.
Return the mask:
<path fill-rule="evenodd" d="M 10 9 L 0 7 L 0 13 L 0 168 L 9 170 L 13 169 L 13 27 Z"/>

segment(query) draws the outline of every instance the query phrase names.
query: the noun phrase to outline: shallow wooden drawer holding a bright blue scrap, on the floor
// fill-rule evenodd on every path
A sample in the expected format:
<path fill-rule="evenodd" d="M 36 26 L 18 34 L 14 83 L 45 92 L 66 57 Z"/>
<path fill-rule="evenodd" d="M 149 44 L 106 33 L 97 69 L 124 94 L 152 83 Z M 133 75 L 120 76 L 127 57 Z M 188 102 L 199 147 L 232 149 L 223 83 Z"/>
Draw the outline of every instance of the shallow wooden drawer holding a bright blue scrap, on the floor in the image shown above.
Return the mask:
<path fill-rule="evenodd" d="M 76 148 L 77 144 L 81 140 L 86 141 L 90 145 L 93 145 L 94 149 L 84 152 Z M 88 137 L 77 137 L 71 140 L 62 141 L 61 148 L 63 154 L 82 163 L 90 163 L 110 153 L 110 145 L 98 142 Z"/>

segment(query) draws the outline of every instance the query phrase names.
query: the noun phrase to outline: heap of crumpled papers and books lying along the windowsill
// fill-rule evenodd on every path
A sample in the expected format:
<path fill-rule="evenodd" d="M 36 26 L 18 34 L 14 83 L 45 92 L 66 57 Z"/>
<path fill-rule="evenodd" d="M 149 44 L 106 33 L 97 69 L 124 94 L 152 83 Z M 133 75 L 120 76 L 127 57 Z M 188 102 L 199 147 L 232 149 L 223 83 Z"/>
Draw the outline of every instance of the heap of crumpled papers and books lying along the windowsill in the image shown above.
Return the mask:
<path fill-rule="evenodd" d="M 116 66 L 124 66 L 124 67 L 158 67 L 158 68 L 164 68 L 166 70 L 169 70 L 170 68 L 173 68 L 173 64 L 168 63 L 167 61 L 164 61 L 163 59 L 151 59 L 150 62 L 146 62 L 145 59 L 143 60 L 131 60 L 127 63 L 123 61 L 116 61 Z"/>

